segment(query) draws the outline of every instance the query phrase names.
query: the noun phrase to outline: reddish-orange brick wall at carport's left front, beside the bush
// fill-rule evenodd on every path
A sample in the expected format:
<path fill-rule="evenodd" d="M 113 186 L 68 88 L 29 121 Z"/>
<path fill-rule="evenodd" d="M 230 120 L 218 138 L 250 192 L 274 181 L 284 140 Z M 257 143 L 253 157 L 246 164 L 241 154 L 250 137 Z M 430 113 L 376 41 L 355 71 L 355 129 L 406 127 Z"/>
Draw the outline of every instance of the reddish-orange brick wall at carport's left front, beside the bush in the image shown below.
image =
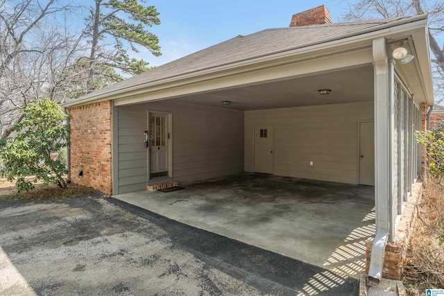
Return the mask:
<path fill-rule="evenodd" d="M 68 108 L 71 116 L 71 181 L 112 193 L 112 103 Z M 80 171 L 83 175 L 79 175 Z"/>

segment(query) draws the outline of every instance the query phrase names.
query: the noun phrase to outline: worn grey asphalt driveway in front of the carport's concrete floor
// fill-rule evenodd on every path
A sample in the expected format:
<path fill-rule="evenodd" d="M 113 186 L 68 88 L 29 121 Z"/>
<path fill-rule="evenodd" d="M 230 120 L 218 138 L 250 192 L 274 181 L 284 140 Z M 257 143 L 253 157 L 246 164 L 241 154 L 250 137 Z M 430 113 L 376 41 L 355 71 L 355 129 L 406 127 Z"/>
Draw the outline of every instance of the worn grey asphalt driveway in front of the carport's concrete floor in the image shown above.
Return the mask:
<path fill-rule="evenodd" d="M 114 198 L 0 201 L 0 295 L 357 295 L 356 279 Z"/>

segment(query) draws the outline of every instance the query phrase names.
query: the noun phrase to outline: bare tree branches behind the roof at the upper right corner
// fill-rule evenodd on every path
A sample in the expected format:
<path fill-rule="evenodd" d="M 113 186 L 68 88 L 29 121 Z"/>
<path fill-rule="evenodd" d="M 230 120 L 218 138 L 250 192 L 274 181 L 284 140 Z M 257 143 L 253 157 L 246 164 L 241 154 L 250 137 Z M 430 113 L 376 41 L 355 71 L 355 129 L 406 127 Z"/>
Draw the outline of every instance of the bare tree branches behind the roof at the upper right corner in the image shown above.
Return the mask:
<path fill-rule="evenodd" d="M 444 45 L 441 47 L 438 42 L 444 38 L 444 2 L 442 0 L 350 0 L 347 3 L 349 11 L 343 19 L 349 21 L 407 17 L 426 13 L 429 15 L 429 45 L 434 55 L 432 67 L 435 101 L 438 104 L 444 103 Z"/>

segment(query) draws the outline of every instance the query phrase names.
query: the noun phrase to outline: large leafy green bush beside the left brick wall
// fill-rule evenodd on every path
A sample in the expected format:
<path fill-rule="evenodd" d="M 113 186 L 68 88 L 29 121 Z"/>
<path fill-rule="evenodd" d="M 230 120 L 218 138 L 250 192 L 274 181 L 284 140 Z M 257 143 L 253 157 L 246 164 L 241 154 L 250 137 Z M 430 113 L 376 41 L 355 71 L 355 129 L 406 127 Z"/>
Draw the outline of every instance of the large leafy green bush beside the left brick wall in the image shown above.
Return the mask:
<path fill-rule="evenodd" d="M 24 119 L 15 125 L 15 137 L 0 143 L 3 173 L 9 181 L 17 180 L 17 192 L 34 189 L 27 176 L 35 175 L 42 186 L 50 183 L 66 188 L 67 167 L 59 159 L 51 159 L 69 144 L 68 116 L 49 98 L 30 103 L 24 109 Z"/>

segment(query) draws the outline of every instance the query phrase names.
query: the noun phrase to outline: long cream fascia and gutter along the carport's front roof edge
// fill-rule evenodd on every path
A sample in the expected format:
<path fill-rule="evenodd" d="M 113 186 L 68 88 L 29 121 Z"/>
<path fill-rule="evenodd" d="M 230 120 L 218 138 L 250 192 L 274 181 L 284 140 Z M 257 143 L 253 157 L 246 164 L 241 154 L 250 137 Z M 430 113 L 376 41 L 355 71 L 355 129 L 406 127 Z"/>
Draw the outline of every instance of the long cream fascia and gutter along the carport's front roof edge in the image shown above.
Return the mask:
<path fill-rule="evenodd" d="M 325 55 L 326 53 L 332 53 L 332 51 L 338 51 L 339 49 L 350 49 L 353 46 L 364 46 L 364 44 L 371 46 L 372 40 L 378 37 L 387 37 L 395 39 L 406 35 L 407 31 L 416 30 L 418 28 L 427 27 L 427 16 L 420 15 L 417 17 L 411 17 L 409 19 L 400 19 L 393 23 L 383 24 L 381 26 L 375 26 L 366 30 L 350 33 L 349 35 L 343 35 L 339 40 L 327 40 L 321 44 L 311 44 L 302 48 L 293 49 L 291 51 L 284 51 L 280 53 L 274 53 L 271 55 L 264 55 L 249 60 L 242 60 L 234 62 L 232 64 L 223 64 L 218 67 L 209 69 L 202 69 L 190 73 L 183 73 L 179 76 L 173 76 L 170 78 L 164 78 L 162 80 L 155 80 L 151 82 L 144 82 L 138 85 L 132 85 L 125 89 L 119 89 L 110 93 L 102 93 L 97 96 L 92 94 L 84 100 L 74 101 L 63 105 L 63 107 L 71 107 L 75 105 L 85 105 L 87 103 L 94 103 L 97 101 L 116 100 L 126 96 L 132 96 L 133 92 L 150 92 L 151 89 L 168 89 L 169 87 L 186 85 L 190 80 L 196 78 L 204 78 L 207 76 L 226 76 L 233 75 L 234 73 L 241 73 L 245 71 L 251 71 L 258 67 L 270 67 L 270 64 L 279 64 L 282 62 L 289 62 L 307 58 L 316 58 L 318 56 Z"/>

